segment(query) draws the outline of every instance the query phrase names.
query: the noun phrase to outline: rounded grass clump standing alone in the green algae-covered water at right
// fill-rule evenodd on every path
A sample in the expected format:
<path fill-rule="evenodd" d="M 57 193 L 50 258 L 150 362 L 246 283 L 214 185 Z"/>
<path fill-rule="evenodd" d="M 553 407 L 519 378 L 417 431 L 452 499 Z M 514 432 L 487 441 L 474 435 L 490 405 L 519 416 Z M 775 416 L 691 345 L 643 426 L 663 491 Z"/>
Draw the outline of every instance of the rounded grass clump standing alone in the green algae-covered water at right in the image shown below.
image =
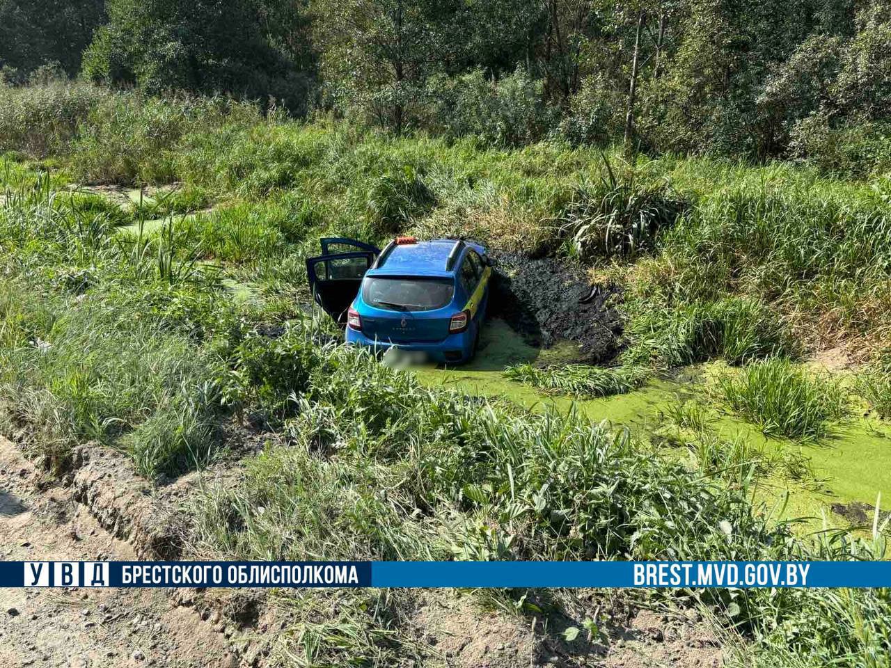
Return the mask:
<path fill-rule="evenodd" d="M 828 375 L 772 358 L 720 379 L 724 401 L 768 436 L 814 439 L 846 415 L 846 393 Z"/>

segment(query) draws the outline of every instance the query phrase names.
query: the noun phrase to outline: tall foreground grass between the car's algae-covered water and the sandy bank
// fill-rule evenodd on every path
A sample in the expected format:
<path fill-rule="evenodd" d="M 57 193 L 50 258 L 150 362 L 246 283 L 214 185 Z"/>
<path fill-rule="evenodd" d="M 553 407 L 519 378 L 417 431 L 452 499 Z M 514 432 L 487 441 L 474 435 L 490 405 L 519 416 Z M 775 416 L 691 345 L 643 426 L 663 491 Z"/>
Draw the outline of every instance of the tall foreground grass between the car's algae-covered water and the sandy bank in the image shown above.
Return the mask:
<path fill-rule="evenodd" d="M 715 443 L 690 468 L 578 415 L 535 415 L 421 387 L 410 374 L 347 348 L 323 348 L 291 399 L 288 444 L 249 462 L 237 485 L 195 501 L 196 554 L 221 558 L 881 558 L 869 541 L 794 538 L 752 506 L 757 453 Z M 759 661 L 791 652 L 805 665 L 880 665 L 884 590 L 700 591 L 748 637 Z M 711 597 L 717 597 L 711 598 Z M 286 596 L 290 599 L 291 596 Z M 317 634 L 302 611 L 293 634 L 320 664 L 347 656 L 413 656 L 399 609 L 340 601 L 343 628 Z M 842 605 L 845 603 L 845 605 Z M 356 604 L 355 607 L 354 604 Z M 289 605 L 286 603 L 286 605 Z M 327 610 L 327 599 L 316 602 Z M 393 606 L 393 607 L 390 607 Z M 315 608 L 318 610 L 319 608 Z M 364 610 L 364 611 L 363 611 Z M 330 613 L 326 613 L 330 614 Z M 855 624 L 860 631 L 851 632 Z M 392 635 L 379 635 L 391 628 Z M 805 631 L 805 629 L 807 631 Z M 341 632 L 342 631 L 342 632 Z M 369 635 L 371 634 L 371 635 Z M 287 643 L 287 640 L 283 640 Z M 753 642 L 754 641 L 754 642 Z M 416 650 L 415 650 L 416 651 Z M 304 656 L 300 654 L 300 656 Z M 864 663 L 866 662 L 866 663 Z"/>

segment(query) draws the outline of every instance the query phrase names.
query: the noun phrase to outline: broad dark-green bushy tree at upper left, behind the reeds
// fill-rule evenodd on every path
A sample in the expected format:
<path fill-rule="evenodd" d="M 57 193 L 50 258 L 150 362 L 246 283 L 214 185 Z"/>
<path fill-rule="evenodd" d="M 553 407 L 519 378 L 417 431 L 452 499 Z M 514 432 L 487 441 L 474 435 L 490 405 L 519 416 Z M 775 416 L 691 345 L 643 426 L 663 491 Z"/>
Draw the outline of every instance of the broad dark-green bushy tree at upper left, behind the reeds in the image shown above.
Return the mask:
<path fill-rule="evenodd" d="M 289 10 L 286 11 L 286 10 Z M 87 49 L 96 81 L 167 90 L 279 99 L 306 110 L 307 77 L 298 46 L 280 21 L 302 26 L 299 5 L 259 0 L 109 0 L 109 23 Z"/>

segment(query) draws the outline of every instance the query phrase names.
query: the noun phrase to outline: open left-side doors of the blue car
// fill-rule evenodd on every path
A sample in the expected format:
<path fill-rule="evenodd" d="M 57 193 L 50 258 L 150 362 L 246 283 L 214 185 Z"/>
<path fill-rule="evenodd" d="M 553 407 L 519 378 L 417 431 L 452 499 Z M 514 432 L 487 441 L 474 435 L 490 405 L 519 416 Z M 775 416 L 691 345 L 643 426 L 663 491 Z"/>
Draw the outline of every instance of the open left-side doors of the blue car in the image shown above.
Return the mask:
<path fill-rule="evenodd" d="M 309 289 L 315 303 L 339 324 L 347 322 L 347 309 L 356 298 L 369 267 L 380 255 L 362 241 L 343 237 L 322 240 L 322 255 L 307 258 Z"/>

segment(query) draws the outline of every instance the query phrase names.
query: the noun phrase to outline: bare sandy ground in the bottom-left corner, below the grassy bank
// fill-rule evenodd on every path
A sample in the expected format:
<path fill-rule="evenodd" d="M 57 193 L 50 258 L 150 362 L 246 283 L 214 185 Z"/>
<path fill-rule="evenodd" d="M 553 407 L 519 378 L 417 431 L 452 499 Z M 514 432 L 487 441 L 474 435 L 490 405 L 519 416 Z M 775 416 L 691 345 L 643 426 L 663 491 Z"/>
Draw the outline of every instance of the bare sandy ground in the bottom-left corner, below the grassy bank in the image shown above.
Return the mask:
<path fill-rule="evenodd" d="M 71 491 L 0 438 L 0 552 L 7 560 L 134 559 Z M 164 590 L 0 590 L 0 665 L 239 665 L 225 635 Z"/>

